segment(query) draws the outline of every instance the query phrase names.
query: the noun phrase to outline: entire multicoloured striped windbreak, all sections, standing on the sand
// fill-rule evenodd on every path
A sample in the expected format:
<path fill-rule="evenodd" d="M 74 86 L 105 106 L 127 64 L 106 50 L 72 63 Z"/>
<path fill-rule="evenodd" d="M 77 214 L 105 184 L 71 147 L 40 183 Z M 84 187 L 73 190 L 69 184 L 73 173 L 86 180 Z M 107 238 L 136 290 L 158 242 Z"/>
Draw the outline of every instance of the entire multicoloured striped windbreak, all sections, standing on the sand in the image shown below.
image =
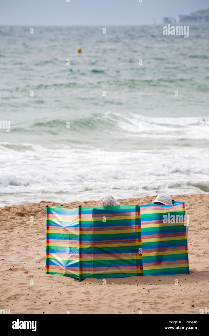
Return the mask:
<path fill-rule="evenodd" d="M 185 202 L 141 212 L 140 205 L 48 207 L 46 273 L 80 281 L 189 274 Z"/>

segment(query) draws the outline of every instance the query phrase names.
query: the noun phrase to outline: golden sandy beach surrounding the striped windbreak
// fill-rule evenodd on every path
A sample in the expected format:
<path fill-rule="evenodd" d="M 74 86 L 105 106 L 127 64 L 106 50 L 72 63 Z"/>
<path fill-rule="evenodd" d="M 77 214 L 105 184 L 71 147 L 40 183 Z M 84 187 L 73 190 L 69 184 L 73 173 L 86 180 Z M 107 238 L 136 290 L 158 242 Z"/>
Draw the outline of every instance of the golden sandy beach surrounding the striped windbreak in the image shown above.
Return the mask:
<path fill-rule="evenodd" d="M 117 201 L 149 204 L 154 197 Z M 209 194 L 171 197 L 186 201 L 190 275 L 107 279 L 106 285 L 102 279 L 78 282 L 46 275 L 46 205 L 59 204 L 0 208 L 0 309 L 11 314 L 200 314 L 209 308 Z M 100 201 L 63 205 L 100 206 Z"/>

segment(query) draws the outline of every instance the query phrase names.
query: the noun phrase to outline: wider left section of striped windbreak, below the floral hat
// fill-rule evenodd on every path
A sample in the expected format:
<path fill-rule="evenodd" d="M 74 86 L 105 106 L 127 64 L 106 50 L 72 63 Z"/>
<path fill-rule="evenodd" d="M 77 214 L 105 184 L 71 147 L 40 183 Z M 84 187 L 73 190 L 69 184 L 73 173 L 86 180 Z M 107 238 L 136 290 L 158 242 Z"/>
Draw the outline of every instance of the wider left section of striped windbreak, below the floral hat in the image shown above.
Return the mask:
<path fill-rule="evenodd" d="M 140 206 L 47 208 L 46 273 L 86 278 L 142 275 Z"/>

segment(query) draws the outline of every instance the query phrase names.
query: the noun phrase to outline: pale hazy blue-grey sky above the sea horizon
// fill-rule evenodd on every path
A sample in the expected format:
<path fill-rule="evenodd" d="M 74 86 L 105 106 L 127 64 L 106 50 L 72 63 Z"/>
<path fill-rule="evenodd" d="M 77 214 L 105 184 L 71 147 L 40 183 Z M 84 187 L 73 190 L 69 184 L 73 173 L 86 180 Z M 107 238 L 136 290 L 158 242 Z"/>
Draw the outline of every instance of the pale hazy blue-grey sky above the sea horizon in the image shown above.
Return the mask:
<path fill-rule="evenodd" d="M 208 9 L 208 0 L 0 0 L 0 25 L 149 25 Z"/>

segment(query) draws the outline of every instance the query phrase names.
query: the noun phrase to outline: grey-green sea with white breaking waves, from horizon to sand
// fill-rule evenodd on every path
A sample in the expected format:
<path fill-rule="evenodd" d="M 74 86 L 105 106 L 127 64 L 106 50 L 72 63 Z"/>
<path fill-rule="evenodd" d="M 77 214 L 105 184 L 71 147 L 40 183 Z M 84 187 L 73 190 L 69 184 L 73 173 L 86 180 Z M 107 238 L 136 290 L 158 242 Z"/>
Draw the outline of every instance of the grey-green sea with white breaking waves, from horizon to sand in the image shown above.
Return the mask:
<path fill-rule="evenodd" d="M 209 192 L 209 25 L 162 27 L 0 27 L 1 206 Z"/>

